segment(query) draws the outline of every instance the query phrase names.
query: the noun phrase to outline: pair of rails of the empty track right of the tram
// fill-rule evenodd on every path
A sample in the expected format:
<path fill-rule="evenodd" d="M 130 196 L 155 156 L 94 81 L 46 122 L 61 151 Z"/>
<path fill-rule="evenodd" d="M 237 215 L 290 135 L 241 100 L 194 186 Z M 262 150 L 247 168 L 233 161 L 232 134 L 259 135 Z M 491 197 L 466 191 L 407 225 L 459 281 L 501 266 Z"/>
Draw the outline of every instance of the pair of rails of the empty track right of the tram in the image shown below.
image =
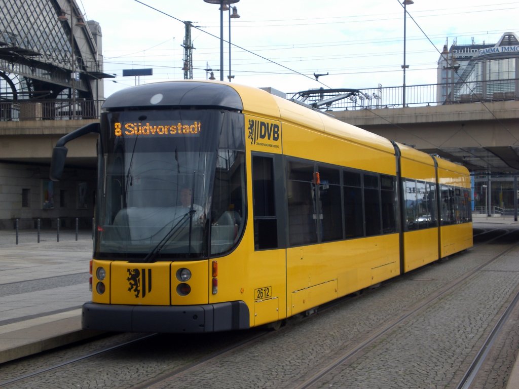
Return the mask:
<path fill-rule="evenodd" d="M 496 230 L 493 230 L 496 231 Z M 513 232 L 502 230 L 504 233 L 497 235 L 494 238 L 491 238 L 485 242 L 482 242 L 478 245 L 473 246 L 469 250 L 473 250 L 477 248 L 478 246 L 488 244 L 490 242 L 494 242 L 497 239 L 506 237 L 506 235 L 511 234 Z M 488 231 L 492 232 L 492 231 Z M 394 318 L 392 321 L 388 322 L 385 326 L 379 327 L 372 331 L 370 334 L 368 334 L 364 340 L 362 340 L 360 343 L 352 346 L 351 348 L 348 348 L 344 350 L 344 352 L 340 353 L 338 356 L 336 356 L 331 362 L 327 363 L 325 366 L 320 368 L 318 371 L 313 373 L 310 377 L 305 377 L 301 381 L 298 381 L 295 383 L 295 385 L 292 383 L 290 385 L 284 386 L 285 389 L 309 389 L 314 387 L 315 384 L 320 382 L 323 378 L 326 376 L 329 376 L 335 369 L 337 369 L 340 366 L 343 366 L 349 362 L 351 362 L 356 356 L 361 354 L 361 352 L 365 351 L 368 346 L 374 344 L 385 334 L 387 334 L 389 331 L 403 325 L 405 321 L 407 321 L 409 318 L 417 314 L 418 312 L 424 310 L 425 308 L 429 307 L 434 302 L 440 300 L 443 296 L 445 296 L 449 291 L 452 291 L 460 284 L 466 282 L 471 276 L 476 274 L 477 272 L 484 269 L 486 266 L 490 265 L 497 259 L 501 258 L 502 256 L 506 255 L 507 253 L 511 252 L 514 248 L 519 246 L 519 242 L 515 244 L 511 244 L 506 249 L 499 252 L 497 255 L 491 257 L 490 259 L 484 261 L 479 266 L 475 267 L 474 269 L 471 269 L 467 273 L 463 274 L 462 276 L 458 277 L 457 279 L 449 282 L 441 289 L 435 291 L 433 294 L 431 294 L 428 298 L 420 301 L 416 305 L 410 307 L 407 309 L 404 313 L 402 313 L 400 316 Z M 499 330 L 502 327 L 502 324 L 506 321 L 506 318 L 510 315 L 510 312 L 515 307 L 517 301 L 519 300 L 519 293 L 515 296 L 510 306 L 506 309 L 506 311 L 503 313 L 501 318 L 499 319 L 498 324 L 493 329 L 485 343 L 481 346 L 479 352 L 477 353 L 476 357 L 474 358 L 473 362 L 470 364 L 470 367 L 468 368 L 467 372 L 463 376 L 463 379 L 460 381 L 456 389 L 467 389 L 470 384 L 472 383 L 472 380 L 474 379 L 475 375 L 477 374 L 477 371 L 481 367 L 486 354 L 488 352 L 489 347 L 494 342 L 496 336 L 499 334 Z"/>

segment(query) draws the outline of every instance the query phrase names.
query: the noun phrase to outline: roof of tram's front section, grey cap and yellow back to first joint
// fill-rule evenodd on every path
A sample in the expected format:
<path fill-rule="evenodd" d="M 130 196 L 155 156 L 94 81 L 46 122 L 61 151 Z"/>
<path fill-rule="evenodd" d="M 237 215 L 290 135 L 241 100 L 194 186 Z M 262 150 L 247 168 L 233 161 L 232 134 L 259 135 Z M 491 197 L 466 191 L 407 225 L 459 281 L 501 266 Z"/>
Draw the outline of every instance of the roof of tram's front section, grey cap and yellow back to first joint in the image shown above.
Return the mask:
<path fill-rule="evenodd" d="M 104 109 L 166 106 L 197 106 L 239 110 L 343 138 L 394 154 L 386 138 L 352 126 L 317 110 L 296 104 L 262 89 L 222 81 L 181 80 L 144 84 L 115 92 L 106 99 Z"/>

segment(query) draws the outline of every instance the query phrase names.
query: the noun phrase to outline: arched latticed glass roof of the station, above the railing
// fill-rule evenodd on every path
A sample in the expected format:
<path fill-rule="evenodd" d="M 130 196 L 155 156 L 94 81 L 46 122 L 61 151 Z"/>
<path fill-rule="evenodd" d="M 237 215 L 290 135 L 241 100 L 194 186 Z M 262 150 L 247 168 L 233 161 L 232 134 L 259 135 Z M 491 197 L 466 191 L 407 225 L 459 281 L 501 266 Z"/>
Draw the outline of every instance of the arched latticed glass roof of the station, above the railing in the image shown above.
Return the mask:
<path fill-rule="evenodd" d="M 101 29 L 74 0 L 4 0 L 0 102 L 103 97 Z"/>

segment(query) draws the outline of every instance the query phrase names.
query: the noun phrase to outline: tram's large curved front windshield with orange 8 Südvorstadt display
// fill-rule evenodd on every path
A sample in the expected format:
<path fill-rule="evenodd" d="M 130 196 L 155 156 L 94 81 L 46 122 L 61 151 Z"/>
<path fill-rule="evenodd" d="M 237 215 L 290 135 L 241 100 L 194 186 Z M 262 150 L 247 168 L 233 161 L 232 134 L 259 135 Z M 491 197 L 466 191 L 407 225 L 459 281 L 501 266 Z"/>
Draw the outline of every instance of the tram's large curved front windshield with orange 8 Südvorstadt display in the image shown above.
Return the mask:
<path fill-rule="evenodd" d="M 112 112 L 101 133 L 96 258 L 196 259 L 234 247 L 245 218 L 241 114 Z"/>

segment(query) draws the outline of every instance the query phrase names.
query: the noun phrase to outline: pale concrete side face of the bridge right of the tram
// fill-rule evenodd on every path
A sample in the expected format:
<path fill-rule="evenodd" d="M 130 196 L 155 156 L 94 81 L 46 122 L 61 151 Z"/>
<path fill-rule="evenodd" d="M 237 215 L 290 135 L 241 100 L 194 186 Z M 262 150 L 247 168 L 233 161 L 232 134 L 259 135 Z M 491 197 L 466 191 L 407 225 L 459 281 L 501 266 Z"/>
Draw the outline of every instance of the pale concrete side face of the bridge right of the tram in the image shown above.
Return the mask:
<path fill-rule="evenodd" d="M 417 149 L 510 146 L 519 101 L 334 111 L 339 120 Z"/>

